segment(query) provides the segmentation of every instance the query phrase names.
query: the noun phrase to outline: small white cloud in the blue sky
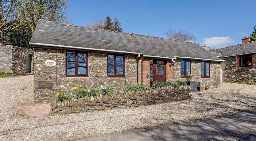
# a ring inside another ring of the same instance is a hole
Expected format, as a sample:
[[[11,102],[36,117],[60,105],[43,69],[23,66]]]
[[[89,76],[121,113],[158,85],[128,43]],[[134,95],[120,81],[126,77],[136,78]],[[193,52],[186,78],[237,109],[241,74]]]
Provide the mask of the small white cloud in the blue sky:
[[[235,40],[231,39],[229,36],[226,37],[211,37],[211,38],[203,38],[203,44],[208,47],[212,46],[220,46],[220,45],[227,45],[229,43],[233,43]]]

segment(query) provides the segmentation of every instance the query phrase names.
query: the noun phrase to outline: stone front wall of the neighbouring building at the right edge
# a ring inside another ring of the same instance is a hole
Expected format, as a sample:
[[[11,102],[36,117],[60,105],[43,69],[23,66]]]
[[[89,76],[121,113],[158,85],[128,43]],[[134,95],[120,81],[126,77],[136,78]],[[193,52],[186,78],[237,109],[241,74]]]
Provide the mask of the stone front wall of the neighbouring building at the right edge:
[[[225,60],[222,63],[223,82],[232,82],[246,75],[246,78],[236,81],[236,83],[256,82],[256,54],[254,54],[253,58],[252,67],[239,67],[240,62],[238,56],[222,58]]]

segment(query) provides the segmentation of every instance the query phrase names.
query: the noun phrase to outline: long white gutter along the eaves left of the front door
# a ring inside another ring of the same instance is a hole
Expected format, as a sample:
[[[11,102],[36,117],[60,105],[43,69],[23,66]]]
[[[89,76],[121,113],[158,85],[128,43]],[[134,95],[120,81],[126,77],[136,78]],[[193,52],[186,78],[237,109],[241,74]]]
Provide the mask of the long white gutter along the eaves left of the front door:
[[[41,44],[41,43],[30,43],[30,45],[40,45],[40,46],[49,46],[49,47],[60,47],[60,48],[76,48],[76,49],[84,49],[84,50],[92,50],[92,51],[107,51],[107,52],[117,52],[117,53],[128,53],[128,54],[138,54],[137,57],[140,57],[142,53],[138,52],[129,52],[129,51],[115,51],[108,49],[97,49],[97,48],[84,48],[84,47],[74,47],[74,46],[64,46],[64,45],[56,45],[56,44]]]

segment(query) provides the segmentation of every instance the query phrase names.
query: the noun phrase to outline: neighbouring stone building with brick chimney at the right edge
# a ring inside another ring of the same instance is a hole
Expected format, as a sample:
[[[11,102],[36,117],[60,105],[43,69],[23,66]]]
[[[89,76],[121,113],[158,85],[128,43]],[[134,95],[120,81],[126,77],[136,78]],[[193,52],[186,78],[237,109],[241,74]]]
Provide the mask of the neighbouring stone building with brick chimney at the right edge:
[[[243,37],[242,44],[211,50],[225,62],[222,63],[223,82],[256,82],[256,41]]]

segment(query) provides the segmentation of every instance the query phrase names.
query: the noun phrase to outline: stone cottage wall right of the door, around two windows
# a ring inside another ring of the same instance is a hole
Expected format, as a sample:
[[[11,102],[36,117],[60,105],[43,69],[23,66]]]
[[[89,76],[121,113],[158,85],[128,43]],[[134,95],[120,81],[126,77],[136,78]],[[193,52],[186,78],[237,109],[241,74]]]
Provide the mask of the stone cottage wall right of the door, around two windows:
[[[200,82],[200,90],[204,90],[206,85],[210,88],[220,87],[220,63],[210,62],[210,78],[201,78],[201,61],[192,60],[191,68],[193,74],[191,81]],[[176,59],[173,68],[173,79],[180,78],[180,59]]]

